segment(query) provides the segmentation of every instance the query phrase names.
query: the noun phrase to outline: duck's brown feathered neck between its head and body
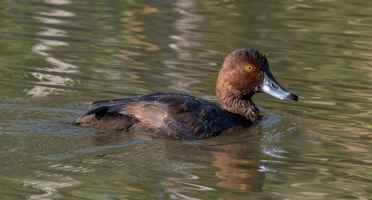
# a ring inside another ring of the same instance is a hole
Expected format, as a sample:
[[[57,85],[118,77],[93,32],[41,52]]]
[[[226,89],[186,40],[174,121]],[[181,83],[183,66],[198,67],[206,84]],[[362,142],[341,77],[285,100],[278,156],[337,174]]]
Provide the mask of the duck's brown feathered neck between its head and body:
[[[231,91],[230,91],[231,92]],[[216,88],[218,103],[228,112],[245,117],[250,122],[259,118],[260,112],[254,105],[251,95],[232,92],[227,94]]]

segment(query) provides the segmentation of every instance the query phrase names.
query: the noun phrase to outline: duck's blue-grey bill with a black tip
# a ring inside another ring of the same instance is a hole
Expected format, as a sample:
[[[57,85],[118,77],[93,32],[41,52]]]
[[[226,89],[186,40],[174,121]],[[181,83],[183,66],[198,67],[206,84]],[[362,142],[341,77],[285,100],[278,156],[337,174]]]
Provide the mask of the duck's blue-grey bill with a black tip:
[[[271,74],[268,64],[265,67],[265,71],[265,79],[260,88],[260,92],[270,94],[278,99],[298,101],[298,96],[296,94],[290,93],[279,85],[278,81],[276,81]]]

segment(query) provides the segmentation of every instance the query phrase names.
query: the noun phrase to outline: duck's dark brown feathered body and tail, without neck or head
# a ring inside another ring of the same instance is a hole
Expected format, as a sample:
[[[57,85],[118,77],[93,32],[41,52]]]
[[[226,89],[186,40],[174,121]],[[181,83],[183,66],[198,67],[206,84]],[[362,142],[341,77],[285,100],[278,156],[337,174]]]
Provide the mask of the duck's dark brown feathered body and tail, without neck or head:
[[[201,139],[236,125],[236,117],[193,96],[151,93],[130,99],[84,102],[96,107],[73,124],[122,131],[142,130]]]

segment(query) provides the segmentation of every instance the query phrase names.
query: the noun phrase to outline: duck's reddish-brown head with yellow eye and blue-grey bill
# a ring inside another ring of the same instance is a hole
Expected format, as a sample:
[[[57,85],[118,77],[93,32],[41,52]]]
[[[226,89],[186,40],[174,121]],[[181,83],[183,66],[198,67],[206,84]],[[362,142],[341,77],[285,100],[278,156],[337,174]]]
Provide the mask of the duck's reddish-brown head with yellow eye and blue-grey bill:
[[[298,96],[285,90],[275,80],[264,54],[254,49],[237,49],[224,59],[218,72],[218,103],[236,113],[231,106],[241,103],[241,100],[248,101],[254,107],[251,97],[256,93],[270,94],[279,99],[298,100]]]

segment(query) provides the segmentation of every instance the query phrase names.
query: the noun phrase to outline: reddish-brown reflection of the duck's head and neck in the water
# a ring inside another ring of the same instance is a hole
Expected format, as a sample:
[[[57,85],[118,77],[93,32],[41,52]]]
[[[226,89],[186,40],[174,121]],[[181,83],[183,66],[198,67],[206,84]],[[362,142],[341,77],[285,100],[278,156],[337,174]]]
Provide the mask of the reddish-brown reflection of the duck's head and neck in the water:
[[[250,129],[249,138],[244,136],[247,135],[247,129],[230,129],[228,132],[233,132],[232,136],[225,135],[208,142],[208,146],[212,145],[211,152],[215,158],[212,165],[219,168],[215,172],[220,178],[218,186],[234,190],[262,191],[266,172],[277,172],[267,166],[272,162],[270,159],[262,161],[250,157],[251,154],[257,155],[257,152],[265,151],[260,141],[262,132]],[[244,142],[241,142],[243,138]]]

